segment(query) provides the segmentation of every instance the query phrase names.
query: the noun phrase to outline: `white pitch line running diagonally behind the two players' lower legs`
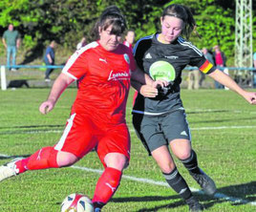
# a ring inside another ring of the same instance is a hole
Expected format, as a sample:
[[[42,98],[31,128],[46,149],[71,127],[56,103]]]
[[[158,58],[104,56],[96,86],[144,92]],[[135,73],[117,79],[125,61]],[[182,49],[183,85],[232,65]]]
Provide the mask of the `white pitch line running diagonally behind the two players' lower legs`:
[[[75,166],[75,165],[73,165],[71,167],[75,168],[75,169],[80,169],[80,170],[83,170],[83,171],[86,171],[86,172],[97,173],[97,174],[101,174],[103,172],[103,170],[100,170],[100,169],[92,169],[92,168],[80,167],[80,166]],[[164,186],[164,187],[170,187],[168,185],[168,183],[164,182],[164,181],[156,181],[156,180],[150,180],[150,179],[141,179],[141,178],[136,178],[136,177],[127,176],[127,175],[123,175],[122,179],[134,180],[134,181],[139,181],[139,182],[153,184],[153,185],[160,185],[160,186]],[[199,190],[199,189],[196,189],[196,188],[190,188],[190,190],[193,191],[193,192],[197,192],[198,194],[204,195],[202,190]],[[214,198],[222,199],[222,200],[224,199],[226,201],[234,201],[236,203],[250,204],[250,205],[256,206],[256,201],[245,201],[245,200],[240,199],[240,198],[234,198],[234,197],[226,196],[226,195],[224,195],[222,193],[216,193],[214,195]]]

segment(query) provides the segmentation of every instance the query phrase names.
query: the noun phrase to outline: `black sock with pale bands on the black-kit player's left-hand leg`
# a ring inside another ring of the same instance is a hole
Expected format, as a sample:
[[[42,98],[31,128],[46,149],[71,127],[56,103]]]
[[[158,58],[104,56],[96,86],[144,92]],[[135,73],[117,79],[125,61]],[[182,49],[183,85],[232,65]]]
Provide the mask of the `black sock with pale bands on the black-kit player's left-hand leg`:
[[[187,200],[192,197],[192,193],[185,182],[185,180],[180,175],[177,168],[175,168],[171,173],[162,173],[168,184],[179,194],[183,200]]]

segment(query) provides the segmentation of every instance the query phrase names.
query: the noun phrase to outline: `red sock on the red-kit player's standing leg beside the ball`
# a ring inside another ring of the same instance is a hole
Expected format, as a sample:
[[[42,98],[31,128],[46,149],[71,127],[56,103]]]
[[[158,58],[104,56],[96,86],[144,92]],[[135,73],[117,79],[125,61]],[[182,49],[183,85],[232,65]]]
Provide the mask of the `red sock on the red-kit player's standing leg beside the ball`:
[[[96,191],[93,202],[106,204],[115,194],[121,180],[122,172],[107,167],[96,183]]]

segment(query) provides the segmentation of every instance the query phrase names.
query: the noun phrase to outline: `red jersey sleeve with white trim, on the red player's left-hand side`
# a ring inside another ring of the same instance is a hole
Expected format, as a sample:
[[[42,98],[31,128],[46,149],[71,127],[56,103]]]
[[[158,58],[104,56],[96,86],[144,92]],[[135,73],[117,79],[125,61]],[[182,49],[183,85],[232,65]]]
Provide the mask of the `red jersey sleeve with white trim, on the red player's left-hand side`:
[[[85,75],[88,71],[87,53],[76,51],[64,66],[62,73],[69,75],[75,80]]]

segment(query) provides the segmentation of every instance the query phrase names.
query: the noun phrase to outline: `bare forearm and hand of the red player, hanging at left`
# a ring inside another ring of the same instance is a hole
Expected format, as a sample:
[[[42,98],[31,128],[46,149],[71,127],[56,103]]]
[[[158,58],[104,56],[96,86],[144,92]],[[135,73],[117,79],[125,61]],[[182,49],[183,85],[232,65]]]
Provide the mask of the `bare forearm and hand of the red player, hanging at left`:
[[[72,82],[74,82],[74,80],[74,78],[68,76],[67,74],[59,74],[53,83],[53,88],[50,92],[50,95],[48,96],[48,99],[44,101],[39,107],[40,113],[45,115],[52,111],[58,97]]]

